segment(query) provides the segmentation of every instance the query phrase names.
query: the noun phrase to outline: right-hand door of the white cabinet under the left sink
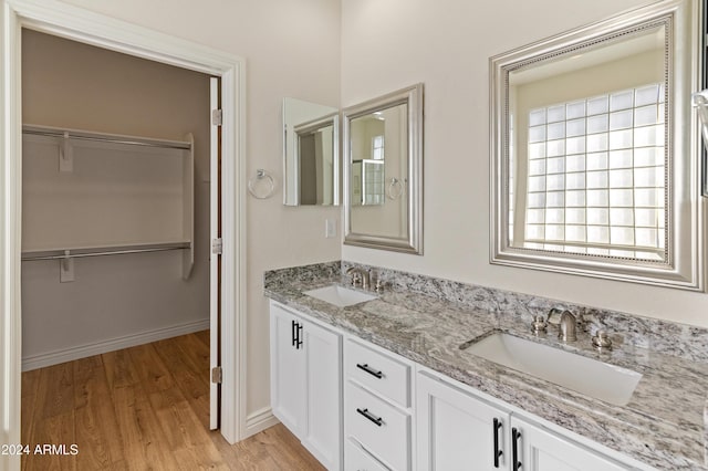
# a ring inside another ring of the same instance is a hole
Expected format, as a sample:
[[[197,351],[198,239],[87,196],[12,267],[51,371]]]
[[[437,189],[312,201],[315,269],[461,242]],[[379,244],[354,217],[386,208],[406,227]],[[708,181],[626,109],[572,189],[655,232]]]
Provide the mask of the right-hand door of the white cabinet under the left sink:
[[[303,322],[308,427],[302,443],[330,470],[342,454],[342,336]]]

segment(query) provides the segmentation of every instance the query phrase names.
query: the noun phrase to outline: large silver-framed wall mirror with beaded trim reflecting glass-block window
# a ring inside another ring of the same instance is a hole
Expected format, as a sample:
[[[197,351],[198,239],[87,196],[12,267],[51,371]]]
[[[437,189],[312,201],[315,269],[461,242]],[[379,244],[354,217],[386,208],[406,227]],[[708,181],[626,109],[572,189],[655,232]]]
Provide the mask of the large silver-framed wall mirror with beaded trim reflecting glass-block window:
[[[492,263],[701,287],[699,3],[491,57]]]

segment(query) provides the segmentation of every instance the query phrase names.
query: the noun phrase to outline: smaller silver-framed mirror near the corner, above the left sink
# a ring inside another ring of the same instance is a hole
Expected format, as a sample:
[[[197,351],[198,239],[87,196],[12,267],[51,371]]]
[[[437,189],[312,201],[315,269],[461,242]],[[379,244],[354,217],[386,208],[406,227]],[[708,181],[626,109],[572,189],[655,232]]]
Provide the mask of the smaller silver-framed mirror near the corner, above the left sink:
[[[423,84],[342,116],[344,243],[423,253]]]

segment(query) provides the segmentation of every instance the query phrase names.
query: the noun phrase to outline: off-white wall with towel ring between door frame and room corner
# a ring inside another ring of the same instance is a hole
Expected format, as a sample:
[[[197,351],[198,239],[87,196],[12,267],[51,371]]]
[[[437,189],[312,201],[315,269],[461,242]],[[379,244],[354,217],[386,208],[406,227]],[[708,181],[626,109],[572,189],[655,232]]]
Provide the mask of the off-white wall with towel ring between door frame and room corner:
[[[246,59],[247,171],[282,181],[284,96],[339,104],[340,4],[335,0],[66,0],[77,7],[202,43]],[[282,205],[280,189],[248,199],[249,415],[269,407],[268,304],[263,272],[340,258],[340,238],[324,239],[339,208]]]

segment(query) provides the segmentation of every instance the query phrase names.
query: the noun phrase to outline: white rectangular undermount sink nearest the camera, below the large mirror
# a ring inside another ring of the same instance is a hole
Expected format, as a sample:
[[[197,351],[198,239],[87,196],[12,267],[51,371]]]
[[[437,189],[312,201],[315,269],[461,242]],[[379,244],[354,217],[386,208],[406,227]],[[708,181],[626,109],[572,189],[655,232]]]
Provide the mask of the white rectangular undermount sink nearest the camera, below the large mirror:
[[[467,352],[616,406],[629,401],[642,379],[631,369],[501,332],[473,343]]]

